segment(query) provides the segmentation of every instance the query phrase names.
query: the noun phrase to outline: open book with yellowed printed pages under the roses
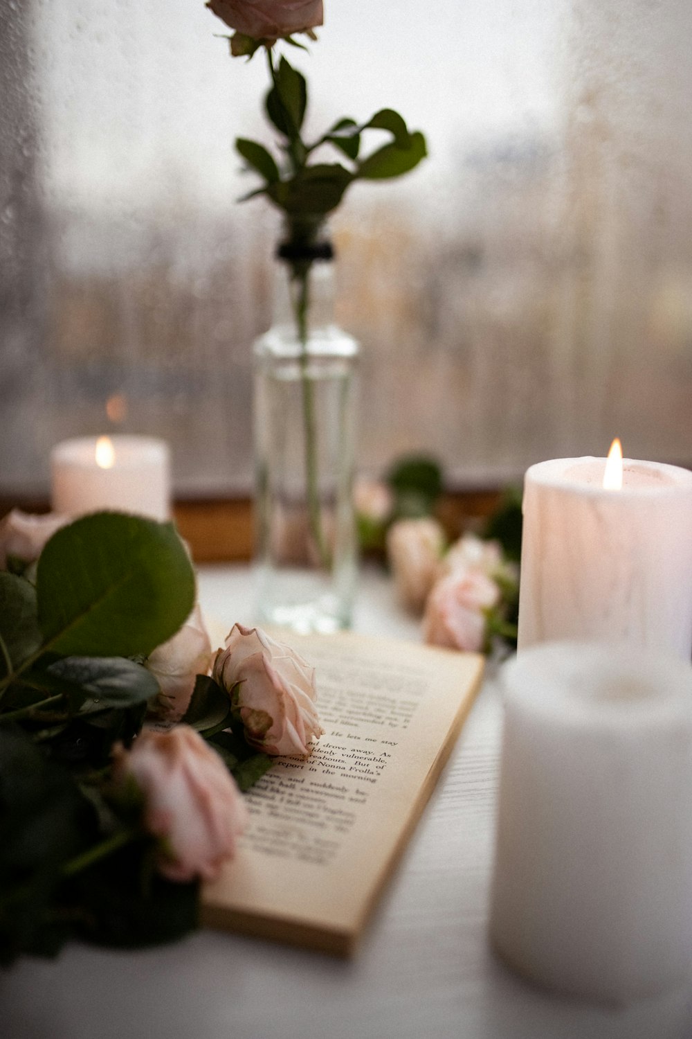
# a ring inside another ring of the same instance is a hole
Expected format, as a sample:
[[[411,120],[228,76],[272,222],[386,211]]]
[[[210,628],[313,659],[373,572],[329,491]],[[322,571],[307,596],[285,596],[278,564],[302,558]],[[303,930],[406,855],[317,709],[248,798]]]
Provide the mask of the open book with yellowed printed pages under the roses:
[[[482,657],[339,634],[284,636],[316,668],[324,736],[246,795],[250,824],[202,920],[347,955],[427,801]]]

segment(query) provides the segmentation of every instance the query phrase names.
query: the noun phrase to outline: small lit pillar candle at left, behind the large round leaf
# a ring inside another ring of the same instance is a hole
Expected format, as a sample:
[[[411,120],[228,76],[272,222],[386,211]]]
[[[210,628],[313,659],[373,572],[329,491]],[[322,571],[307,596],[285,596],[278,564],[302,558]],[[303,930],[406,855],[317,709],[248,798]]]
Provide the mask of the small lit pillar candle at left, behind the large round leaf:
[[[78,516],[100,509],[170,517],[168,445],[150,436],[84,436],[51,454],[55,512]]]

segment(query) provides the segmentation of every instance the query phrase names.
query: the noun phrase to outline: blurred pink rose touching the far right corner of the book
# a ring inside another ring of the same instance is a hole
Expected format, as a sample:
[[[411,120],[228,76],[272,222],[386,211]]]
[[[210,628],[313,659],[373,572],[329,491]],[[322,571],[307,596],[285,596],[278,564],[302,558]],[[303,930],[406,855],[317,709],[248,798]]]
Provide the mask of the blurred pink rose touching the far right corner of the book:
[[[486,640],[483,611],[497,606],[500,589],[480,569],[449,574],[425,603],[423,638],[432,645],[479,652]]]

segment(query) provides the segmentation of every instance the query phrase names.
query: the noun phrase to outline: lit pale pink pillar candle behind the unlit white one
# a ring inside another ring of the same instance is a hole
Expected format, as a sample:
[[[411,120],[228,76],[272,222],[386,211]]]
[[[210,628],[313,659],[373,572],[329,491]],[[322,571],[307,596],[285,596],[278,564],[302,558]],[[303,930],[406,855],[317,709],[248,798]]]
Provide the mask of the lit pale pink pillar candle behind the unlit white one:
[[[692,473],[604,458],[531,465],[524,482],[519,648],[624,639],[692,652]]]

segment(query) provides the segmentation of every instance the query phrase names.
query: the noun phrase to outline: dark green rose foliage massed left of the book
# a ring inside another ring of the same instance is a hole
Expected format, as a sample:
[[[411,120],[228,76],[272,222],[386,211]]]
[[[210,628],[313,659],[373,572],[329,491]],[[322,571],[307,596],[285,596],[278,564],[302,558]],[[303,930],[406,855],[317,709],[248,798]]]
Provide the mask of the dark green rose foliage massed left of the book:
[[[194,606],[186,548],[124,513],[15,512],[0,551],[0,960],[76,934],[175,937],[195,926],[197,880],[149,877],[160,838],[109,789],[111,749],[133,746],[160,694],[141,661]]]

